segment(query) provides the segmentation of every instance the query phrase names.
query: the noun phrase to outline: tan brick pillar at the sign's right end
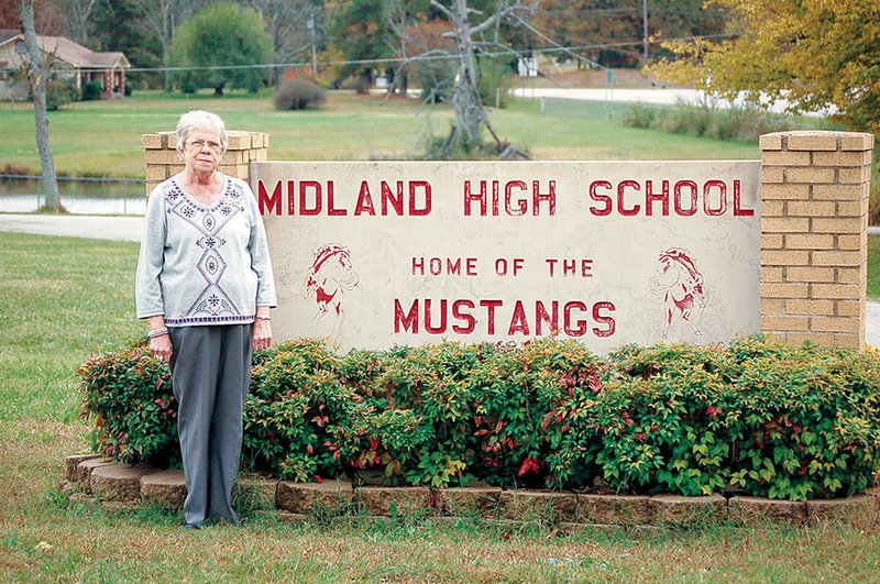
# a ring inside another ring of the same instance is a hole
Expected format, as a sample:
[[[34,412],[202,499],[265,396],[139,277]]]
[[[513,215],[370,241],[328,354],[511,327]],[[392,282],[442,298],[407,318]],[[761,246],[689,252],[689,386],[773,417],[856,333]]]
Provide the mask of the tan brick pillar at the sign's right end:
[[[761,331],[865,349],[873,135],[778,132],[761,147]]]

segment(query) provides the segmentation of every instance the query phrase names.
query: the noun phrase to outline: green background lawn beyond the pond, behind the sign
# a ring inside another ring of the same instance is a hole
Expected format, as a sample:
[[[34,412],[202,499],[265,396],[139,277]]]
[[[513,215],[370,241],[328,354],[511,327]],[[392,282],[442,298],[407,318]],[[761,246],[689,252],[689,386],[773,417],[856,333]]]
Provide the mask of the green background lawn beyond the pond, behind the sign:
[[[135,92],[113,101],[82,101],[50,112],[55,167],[69,176],[143,177],[141,134],[172,131],[190,109],[219,113],[232,130],[267,132],[270,158],[413,158],[429,134],[448,132],[447,106],[418,100],[330,91],[320,110],[276,111],[272,95],[180,96]],[[514,100],[492,112],[498,134],[528,148],[538,159],[693,159],[758,158],[757,144],[668,134],[626,128],[619,119],[628,106],[549,100],[540,114],[537,100]],[[29,103],[0,104],[0,161],[34,174],[40,162],[34,115]]]

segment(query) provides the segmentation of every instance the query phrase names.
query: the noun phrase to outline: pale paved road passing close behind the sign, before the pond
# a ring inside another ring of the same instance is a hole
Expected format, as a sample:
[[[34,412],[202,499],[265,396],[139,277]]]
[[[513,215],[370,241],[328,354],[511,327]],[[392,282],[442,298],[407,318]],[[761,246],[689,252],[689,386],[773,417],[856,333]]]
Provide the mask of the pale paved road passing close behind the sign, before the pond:
[[[0,231],[67,235],[116,241],[141,241],[143,217],[46,216],[0,213]],[[869,228],[880,235],[880,228]],[[868,302],[867,341],[880,346],[880,302]]]

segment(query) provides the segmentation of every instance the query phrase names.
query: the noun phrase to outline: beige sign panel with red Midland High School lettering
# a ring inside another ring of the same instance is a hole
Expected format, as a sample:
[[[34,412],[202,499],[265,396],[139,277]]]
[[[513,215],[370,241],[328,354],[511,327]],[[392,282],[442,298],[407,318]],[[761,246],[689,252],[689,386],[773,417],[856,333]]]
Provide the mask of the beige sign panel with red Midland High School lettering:
[[[255,163],[278,340],[759,331],[756,162]]]

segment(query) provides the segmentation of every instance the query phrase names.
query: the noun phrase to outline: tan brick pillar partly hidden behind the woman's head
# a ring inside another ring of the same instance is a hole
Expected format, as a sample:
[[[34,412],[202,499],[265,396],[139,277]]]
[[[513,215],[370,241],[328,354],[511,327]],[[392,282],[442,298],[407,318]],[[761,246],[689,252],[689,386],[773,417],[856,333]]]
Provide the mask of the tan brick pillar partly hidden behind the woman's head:
[[[251,180],[251,163],[263,162],[268,152],[268,134],[263,132],[228,131],[229,147],[220,161],[219,170],[229,176]],[[177,140],[174,132],[143,134],[146,195],[156,185],[184,169],[184,161],[177,155]]]

